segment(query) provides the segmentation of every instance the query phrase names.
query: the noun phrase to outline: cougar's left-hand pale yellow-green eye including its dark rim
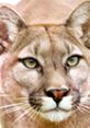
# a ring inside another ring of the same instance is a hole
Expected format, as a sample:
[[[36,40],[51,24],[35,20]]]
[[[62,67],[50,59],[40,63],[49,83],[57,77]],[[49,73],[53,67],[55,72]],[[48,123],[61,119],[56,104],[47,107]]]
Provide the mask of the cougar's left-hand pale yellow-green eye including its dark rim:
[[[34,58],[19,59],[26,68],[33,69],[38,66],[38,61]]]

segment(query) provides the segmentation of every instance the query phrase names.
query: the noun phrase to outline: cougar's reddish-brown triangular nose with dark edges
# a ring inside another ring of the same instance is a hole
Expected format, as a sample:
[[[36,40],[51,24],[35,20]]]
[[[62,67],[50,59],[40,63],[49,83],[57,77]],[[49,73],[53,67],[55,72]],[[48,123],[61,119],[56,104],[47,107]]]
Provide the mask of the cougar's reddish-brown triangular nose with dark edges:
[[[49,89],[47,91],[45,90],[45,94],[48,97],[53,97],[55,102],[59,102],[69,91],[69,89]]]

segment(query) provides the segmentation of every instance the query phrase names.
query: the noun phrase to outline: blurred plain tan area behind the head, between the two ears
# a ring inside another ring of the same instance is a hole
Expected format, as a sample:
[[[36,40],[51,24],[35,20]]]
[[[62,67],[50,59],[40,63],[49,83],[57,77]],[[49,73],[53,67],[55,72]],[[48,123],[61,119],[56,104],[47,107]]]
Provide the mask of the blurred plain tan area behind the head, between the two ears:
[[[87,0],[21,0],[15,9],[27,24],[59,24],[83,1]]]

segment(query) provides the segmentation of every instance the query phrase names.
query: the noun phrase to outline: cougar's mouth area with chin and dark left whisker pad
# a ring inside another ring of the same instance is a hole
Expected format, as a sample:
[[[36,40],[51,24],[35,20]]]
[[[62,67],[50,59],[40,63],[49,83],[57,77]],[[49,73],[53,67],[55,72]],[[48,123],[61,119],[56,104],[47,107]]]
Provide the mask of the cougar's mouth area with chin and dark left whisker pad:
[[[68,95],[57,104],[52,97],[43,96],[38,98],[36,96],[34,100],[30,98],[30,105],[38,107],[35,110],[43,119],[57,123],[68,119],[76,112],[72,100],[74,97]]]

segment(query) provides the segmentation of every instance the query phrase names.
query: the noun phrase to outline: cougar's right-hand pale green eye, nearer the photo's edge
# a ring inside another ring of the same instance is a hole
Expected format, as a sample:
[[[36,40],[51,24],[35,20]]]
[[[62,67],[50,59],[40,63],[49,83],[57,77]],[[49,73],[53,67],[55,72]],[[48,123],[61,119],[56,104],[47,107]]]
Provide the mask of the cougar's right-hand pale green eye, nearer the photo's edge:
[[[69,67],[75,67],[79,63],[81,56],[75,55],[67,59],[66,65]]]

